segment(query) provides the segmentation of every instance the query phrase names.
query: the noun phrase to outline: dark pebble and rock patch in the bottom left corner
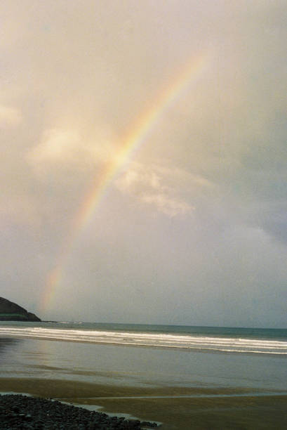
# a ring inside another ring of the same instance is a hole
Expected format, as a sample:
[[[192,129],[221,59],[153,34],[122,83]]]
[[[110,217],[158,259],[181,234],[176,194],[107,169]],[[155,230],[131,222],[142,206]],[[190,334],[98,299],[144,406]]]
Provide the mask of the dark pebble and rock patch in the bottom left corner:
[[[1,430],[139,430],[156,426],[152,422],[109,417],[102,412],[91,412],[57,400],[21,394],[0,395]]]

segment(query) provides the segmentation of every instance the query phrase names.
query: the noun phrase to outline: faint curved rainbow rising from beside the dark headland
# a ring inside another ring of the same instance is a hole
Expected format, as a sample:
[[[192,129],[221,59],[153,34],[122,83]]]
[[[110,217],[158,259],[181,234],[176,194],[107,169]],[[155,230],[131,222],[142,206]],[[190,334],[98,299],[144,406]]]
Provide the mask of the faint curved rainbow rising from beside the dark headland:
[[[122,139],[122,143],[119,145],[119,150],[115,154],[115,157],[107,164],[105,169],[103,169],[100,178],[97,177],[95,179],[90,190],[86,193],[79,211],[77,211],[74,217],[72,228],[70,228],[67,240],[62,246],[62,251],[58,256],[55,268],[48,274],[44,295],[41,300],[41,311],[46,311],[51,304],[55,295],[55,290],[58,285],[60,285],[65,273],[65,265],[69,258],[69,254],[72,252],[73,245],[77,237],[81,235],[82,231],[91,222],[95,208],[98,206],[103,195],[105,195],[109,184],[112,183],[112,180],[116,174],[119,173],[124,164],[131,159],[135,150],[138,150],[140,145],[147,139],[149,132],[152,131],[163,113],[175,103],[175,100],[177,100],[189,84],[196,81],[196,77],[199,77],[204,67],[206,67],[208,63],[207,60],[207,55],[201,55],[194,58],[192,62],[189,62],[189,64],[185,66],[184,70],[181,71],[178,77],[173,81],[173,84],[159,94],[152,106],[149,107],[149,110],[144,112],[135,125],[131,127],[132,131]]]

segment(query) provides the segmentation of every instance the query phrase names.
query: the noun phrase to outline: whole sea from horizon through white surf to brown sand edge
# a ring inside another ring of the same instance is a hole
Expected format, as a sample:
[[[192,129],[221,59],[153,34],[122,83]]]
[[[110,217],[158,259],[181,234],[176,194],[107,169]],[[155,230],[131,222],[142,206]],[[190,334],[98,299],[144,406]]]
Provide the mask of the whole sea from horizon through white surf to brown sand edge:
[[[285,391],[286,359],[285,329],[0,323],[0,378]]]

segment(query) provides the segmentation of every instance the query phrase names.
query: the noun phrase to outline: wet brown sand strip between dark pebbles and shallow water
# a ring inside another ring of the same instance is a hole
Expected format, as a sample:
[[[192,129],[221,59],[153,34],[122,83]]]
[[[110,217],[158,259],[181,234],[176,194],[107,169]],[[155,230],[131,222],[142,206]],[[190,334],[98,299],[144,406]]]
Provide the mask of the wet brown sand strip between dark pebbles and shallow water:
[[[162,422],[163,430],[287,428],[283,392],[260,390],[264,396],[257,396],[258,391],[249,389],[130,387],[30,378],[1,378],[0,391],[99,405],[114,415]]]

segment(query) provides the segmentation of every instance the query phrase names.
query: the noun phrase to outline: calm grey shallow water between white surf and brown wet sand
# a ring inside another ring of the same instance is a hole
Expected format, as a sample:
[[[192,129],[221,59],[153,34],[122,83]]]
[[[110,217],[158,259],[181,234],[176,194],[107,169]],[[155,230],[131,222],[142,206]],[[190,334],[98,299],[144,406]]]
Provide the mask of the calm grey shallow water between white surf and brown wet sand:
[[[39,377],[126,386],[286,389],[286,358],[180,349],[5,338],[0,377]]]

